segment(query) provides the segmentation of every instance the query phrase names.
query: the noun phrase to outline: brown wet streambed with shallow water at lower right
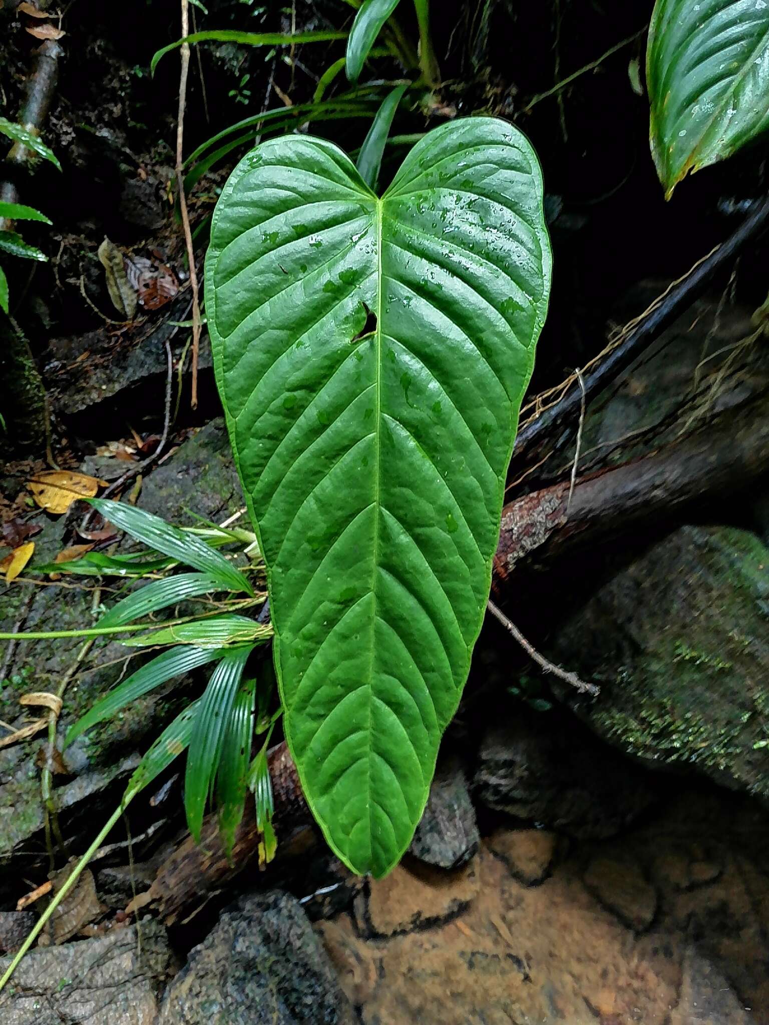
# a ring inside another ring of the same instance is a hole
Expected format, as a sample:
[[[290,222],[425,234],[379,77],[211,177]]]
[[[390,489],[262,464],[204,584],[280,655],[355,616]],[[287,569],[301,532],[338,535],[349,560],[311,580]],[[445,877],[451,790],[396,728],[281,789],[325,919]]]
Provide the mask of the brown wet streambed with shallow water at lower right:
[[[613,839],[537,833],[501,827],[455,872],[401,866],[369,885],[367,915],[316,926],[364,1025],[769,1022],[755,803],[689,791]]]

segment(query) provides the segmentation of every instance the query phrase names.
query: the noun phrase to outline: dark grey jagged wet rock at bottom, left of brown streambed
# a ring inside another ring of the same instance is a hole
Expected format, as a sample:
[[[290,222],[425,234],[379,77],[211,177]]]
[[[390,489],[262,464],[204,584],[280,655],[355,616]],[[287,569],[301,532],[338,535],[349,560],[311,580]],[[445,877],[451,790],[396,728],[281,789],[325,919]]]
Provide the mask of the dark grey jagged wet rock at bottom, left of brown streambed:
[[[243,898],[190,954],[157,1025],[352,1025],[352,1006],[297,902]]]

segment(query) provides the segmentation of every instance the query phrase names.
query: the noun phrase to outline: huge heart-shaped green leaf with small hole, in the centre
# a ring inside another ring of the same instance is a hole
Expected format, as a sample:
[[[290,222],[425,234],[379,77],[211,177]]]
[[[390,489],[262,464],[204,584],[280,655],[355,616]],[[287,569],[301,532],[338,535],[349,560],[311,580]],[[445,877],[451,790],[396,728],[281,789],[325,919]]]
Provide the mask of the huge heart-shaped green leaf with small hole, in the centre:
[[[536,156],[493,118],[431,132],[381,199],[330,142],[270,139],[216,206],[208,326],[286,737],[357,872],[408,846],[459,700],[550,279]]]

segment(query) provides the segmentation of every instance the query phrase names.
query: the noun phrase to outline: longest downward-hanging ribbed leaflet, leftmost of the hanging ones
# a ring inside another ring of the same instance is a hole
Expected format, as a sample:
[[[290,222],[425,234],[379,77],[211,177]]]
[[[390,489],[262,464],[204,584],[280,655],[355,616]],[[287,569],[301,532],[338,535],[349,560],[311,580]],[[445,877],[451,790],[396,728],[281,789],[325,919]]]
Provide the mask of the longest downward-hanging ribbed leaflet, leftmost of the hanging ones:
[[[251,651],[248,645],[228,652],[211,673],[198,704],[185,775],[187,823],[197,842],[200,842],[203,813],[221,753],[221,740]]]

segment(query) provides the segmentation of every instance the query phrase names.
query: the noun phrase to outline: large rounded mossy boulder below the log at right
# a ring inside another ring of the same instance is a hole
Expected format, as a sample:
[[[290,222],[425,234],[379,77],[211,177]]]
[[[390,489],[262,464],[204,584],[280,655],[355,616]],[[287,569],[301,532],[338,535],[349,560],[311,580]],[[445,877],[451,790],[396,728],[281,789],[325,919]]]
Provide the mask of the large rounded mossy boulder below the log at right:
[[[565,697],[606,739],[769,799],[769,548],[756,534],[674,531],[604,578],[550,654],[600,685],[593,701]]]

